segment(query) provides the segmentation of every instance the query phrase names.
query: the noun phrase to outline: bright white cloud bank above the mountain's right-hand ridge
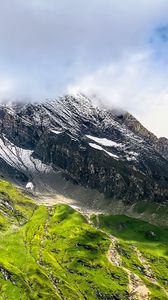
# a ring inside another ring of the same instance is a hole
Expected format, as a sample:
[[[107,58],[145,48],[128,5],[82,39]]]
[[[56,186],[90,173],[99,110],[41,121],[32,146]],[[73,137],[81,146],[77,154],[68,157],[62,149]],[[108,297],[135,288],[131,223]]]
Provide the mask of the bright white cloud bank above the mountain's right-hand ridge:
[[[127,53],[68,86],[98,105],[131,112],[156,134],[168,137],[168,70],[153,61],[153,51]],[[163,116],[163,119],[162,119]],[[159,122],[158,122],[159,120]]]

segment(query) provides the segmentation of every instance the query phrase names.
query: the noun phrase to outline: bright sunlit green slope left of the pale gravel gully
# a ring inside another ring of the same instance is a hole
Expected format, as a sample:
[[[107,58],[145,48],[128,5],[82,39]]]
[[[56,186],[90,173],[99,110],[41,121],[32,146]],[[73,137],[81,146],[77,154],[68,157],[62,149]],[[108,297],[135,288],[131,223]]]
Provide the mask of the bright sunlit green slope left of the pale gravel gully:
[[[4,181],[0,193],[0,299],[128,299],[108,235],[66,205],[37,206]]]

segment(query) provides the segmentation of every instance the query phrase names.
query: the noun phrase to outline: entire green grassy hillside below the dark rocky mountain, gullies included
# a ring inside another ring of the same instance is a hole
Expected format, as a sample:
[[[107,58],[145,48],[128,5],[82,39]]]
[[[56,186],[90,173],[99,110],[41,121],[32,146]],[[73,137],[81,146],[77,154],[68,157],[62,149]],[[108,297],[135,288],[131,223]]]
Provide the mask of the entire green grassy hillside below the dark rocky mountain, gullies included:
[[[0,180],[0,299],[168,299],[166,233],[124,216],[88,223]]]

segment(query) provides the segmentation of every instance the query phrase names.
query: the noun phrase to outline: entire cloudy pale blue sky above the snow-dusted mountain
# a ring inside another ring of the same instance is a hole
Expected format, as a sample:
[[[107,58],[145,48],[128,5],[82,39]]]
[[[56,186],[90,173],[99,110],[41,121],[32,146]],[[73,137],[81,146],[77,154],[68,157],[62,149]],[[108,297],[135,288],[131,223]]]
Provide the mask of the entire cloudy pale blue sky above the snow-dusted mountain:
[[[168,137],[168,1],[1,1],[0,100],[76,91]]]

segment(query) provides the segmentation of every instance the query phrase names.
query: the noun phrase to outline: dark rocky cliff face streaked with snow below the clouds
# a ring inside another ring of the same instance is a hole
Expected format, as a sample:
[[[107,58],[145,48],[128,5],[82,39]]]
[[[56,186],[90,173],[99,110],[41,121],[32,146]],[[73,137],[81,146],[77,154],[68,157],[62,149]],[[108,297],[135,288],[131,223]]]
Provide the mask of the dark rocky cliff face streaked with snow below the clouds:
[[[66,96],[2,106],[0,132],[1,159],[32,182],[35,173],[37,179],[58,171],[107,197],[168,200],[168,142],[130,114],[115,116],[84,96]]]

